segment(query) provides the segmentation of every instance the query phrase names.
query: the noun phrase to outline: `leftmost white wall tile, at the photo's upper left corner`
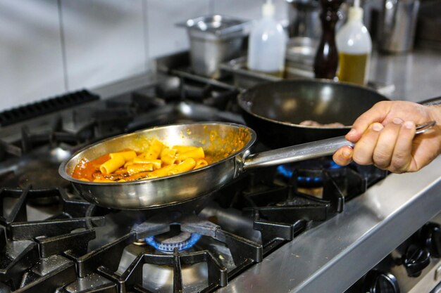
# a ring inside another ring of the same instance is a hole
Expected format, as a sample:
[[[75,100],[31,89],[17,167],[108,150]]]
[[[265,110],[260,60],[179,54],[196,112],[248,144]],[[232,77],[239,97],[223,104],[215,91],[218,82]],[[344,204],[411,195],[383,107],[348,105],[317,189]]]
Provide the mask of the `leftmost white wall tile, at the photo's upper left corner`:
[[[0,1],[0,111],[63,91],[57,1]]]

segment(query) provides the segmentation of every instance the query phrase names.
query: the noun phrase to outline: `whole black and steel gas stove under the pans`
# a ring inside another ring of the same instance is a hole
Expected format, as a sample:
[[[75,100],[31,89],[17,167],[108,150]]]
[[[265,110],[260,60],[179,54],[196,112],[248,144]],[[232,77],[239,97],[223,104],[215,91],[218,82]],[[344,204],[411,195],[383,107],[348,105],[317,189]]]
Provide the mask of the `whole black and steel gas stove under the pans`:
[[[110,136],[244,124],[236,95],[181,74],[0,113],[0,292],[343,292],[441,210],[439,159],[400,176],[330,157],[256,169],[146,211],[90,204],[58,176],[73,152]]]

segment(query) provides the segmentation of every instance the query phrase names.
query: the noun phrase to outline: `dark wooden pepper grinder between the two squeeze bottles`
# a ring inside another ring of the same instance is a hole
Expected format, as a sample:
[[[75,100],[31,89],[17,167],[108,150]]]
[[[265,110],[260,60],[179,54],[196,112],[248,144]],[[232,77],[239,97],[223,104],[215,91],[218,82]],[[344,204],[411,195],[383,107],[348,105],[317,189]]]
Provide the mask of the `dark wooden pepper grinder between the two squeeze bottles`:
[[[321,0],[320,14],[322,35],[314,59],[314,75],[316,78],[334,79],[338,66],[338,52],[335,45],[335,24],[338,8],[344,0]]]

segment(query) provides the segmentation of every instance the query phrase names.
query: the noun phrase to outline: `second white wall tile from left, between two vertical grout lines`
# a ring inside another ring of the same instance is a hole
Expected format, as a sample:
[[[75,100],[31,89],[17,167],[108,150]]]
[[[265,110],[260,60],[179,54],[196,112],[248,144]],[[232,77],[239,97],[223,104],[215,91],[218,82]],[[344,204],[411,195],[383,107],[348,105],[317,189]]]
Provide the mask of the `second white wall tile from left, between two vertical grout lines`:
[[[61,0],[68,89],[147,70],[143,0]]]

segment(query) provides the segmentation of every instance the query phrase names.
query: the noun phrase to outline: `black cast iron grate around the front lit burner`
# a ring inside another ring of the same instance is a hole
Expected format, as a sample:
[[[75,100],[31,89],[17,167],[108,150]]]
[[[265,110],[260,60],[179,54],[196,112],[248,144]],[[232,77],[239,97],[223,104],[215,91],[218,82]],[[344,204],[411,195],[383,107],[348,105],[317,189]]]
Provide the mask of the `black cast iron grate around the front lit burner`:
[[[232,258],[237,265],[228,271],[222,263],[213,256],[211,248],[204,244],[196,245],[195,251],[179,252],[174,249],[173,253],[158,252],[154,247],[146,245],[137,247],[135,242],[150,235],[158,235],[170,229],[172,225],[179,225],[180,229],[189,233],[200,233],[206,239],[224,243],[231,252]],[[129,248],[128,248],[129,247]],[[120,258],[126,249],[137,247],[137,254],[122,272],[118,271]],[[262,247],[256,242],[244,239],[233,233],[222,230],[219,226],[209,221],[199,219],[195,215],[173,216],[170,214],[156,214],[147,221],[132,228],[130,233],[114,240],[102,247],[92,250],[84,255],[75,255],[65,252],[65,255],[77,263],[78,276],[87,278],[88,275],[98,274],[116,284],[118,292],[150,292],[142,287],[142,269],[145,263],[157,266],[168,266],[173,271],[173,292],[182,292],[184,282],[182,280],[182,266],[191,266],[196,263],[206,263],[208,283],[201,288],[201,292],[212,292],[218,287],[227,285],[228,280],[233,278],[239,271],[262,260]],[[112,257],[113,256],[113,257]],[[118,273],[116,273],[118,272]],[[78,284],[80,284],[80,280]],[[108,284],[103,284],[107,286]],[[77,287],[79,285],[70,285]],[[85,291],[85,292],[92,292]]]

